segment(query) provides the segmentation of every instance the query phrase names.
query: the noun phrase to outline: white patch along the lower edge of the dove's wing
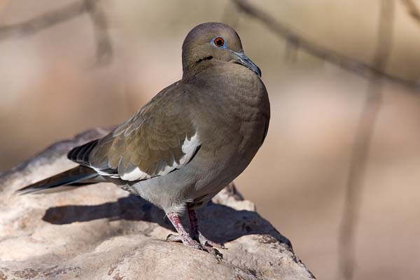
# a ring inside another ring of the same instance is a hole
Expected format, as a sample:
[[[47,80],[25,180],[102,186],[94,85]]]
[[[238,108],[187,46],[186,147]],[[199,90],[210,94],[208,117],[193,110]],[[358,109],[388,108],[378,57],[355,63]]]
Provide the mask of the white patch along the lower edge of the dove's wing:
[[[197,132],[190,139],[186,137],[181,147],[183,156],[179,159],[179,164],[176,162],[176,160],[173,160],[172,165],[167,165],[167,162],[160,162],[160,164],[156,167],[155,170],[155,172],[158,173],[153,172],[153,176],[165,176],[169,172],[172,172],[172,170],[183,167],[188,162],[190,162],[195,151],[197,151],[197,148],[200,145],[201,142],[198,138]],[[120,178],[125,181],[138,181],[144,179],[151,179],[151,175],[142,171],[141,169],[139,169],[139,167],[136,167],[130,172],[121,174]]]

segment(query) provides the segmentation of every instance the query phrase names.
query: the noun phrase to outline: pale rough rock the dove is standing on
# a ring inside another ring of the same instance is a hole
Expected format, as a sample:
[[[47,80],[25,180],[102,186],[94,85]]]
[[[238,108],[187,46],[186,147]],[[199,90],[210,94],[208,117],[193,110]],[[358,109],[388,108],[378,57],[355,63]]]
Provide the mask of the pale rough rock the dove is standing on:
[[[0,174],[0,280],[314,278],[232,185],[198,212],[204,235],[228,248],[223,260],[165,241],[174,232],[165,213],[111,183],[15,195],[72,167],[66,152],[104,133],[59,142]]]

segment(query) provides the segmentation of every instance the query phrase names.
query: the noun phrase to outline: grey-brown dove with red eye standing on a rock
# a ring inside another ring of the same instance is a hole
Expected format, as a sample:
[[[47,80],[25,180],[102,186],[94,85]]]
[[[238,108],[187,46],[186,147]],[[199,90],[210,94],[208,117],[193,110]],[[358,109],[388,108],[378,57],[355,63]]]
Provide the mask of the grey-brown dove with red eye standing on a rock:
[[[162,208],[186,246],[210,251],[195,209],[211,200],[251,162],[269,124],[261,72],[237,32],[209,22],[182,47],[183,77],[159,92],[102,139],[73,148],[78,167],[18,192],[111,181]],[[190,233],[179,216],[187,211]]]

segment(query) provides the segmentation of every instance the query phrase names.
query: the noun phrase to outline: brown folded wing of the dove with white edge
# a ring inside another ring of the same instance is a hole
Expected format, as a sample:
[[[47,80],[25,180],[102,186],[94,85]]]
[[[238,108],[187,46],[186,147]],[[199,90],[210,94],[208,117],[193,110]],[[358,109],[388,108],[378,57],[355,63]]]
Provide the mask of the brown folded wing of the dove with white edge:
[[[168,174],[186,165],[200,147],[190,106],[185,88],[169,86],[106,137],[78,147],[69,158],[127,181]]]

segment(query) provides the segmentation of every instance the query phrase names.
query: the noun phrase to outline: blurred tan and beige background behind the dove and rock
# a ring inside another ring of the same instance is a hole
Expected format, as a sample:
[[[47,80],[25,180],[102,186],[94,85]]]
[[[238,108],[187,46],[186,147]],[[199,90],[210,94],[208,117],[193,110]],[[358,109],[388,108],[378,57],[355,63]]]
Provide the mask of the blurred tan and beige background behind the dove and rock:
[[[418,279],[417,7],[0,0],[0,172],[55,141],[123,122],[181,78],[191,28],[225,22],[262,69],[272,106],[239,191],[318,279]]]

